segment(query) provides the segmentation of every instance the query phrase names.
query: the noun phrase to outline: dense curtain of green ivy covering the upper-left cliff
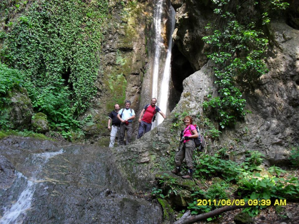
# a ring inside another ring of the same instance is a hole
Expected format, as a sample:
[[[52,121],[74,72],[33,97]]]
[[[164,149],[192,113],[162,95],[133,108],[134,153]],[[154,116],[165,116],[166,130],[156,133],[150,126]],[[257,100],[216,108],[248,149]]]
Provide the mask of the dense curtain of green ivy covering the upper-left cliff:
[[[39,94],[62,89],[62,95],[67,94],[73,104],[72,114],[79,114],[96,91],[94,81],[107,12],[107,0],[23,1],[18,7],[12,5],[6,16],[8,20],[17,16],[17,20],[7,23],[1,61],[20,70]]]

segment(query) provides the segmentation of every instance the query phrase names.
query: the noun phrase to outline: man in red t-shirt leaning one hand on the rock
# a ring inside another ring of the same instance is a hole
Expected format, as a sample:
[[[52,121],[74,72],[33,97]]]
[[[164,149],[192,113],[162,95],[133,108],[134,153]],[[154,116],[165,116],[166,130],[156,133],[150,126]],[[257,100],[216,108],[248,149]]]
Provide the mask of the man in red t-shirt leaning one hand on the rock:
[[[145,107],[142,109],[138,119],[139,129],[137,138],[141,138],[144,133],[150,131],[152,127],[153,117],[154,115],[156,115],[157,112],[159,112],[164,119],[166,118],[165,114],[160,110],[158,106],[156,106],[156,103],[157,99],[153,98],[151,100],[151,104],[145,105]]]

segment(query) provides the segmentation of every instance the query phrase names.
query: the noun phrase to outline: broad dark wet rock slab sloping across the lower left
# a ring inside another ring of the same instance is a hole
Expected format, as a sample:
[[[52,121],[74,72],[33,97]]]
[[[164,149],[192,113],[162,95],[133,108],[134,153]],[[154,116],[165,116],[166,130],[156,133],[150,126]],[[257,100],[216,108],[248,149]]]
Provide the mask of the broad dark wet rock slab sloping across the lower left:
[[[31,139],[30,139],[31,140]],[[4,142],[3,142],[4,141]],[[44,141],[33,142],[45,145]],[[108,148],[94,145],[67,145],[31,149],[23,138],[8,138],[0,144],[0,160],[11,164],[8,168],[22,173],[14,177],[11,187],[0,188],[0,215],[11,201],[29,186],[33,196],[23,223],[162,223],[159,205],[135,198],[130,182],[116,168],[114,156]],[[9,143],[11,142],[11,143]],[[17,150],[17,144],[22,149]],[[27,147],[26,147],[27,145]],[[45,152],[46,148],[55,147]],[[7,154],[9,152],[9,154]],[[7,166],[6,166],[7,167]],[[10,168],[9,168],[10,167]],[[4,170],[3,169],[3,170]],[[9,176],[9,172],[6,171]],[[2,173],[0,173],[2,180]],[[22,186],[20,185],[22,181]],[[1,185],[2,186],[2,185]]]

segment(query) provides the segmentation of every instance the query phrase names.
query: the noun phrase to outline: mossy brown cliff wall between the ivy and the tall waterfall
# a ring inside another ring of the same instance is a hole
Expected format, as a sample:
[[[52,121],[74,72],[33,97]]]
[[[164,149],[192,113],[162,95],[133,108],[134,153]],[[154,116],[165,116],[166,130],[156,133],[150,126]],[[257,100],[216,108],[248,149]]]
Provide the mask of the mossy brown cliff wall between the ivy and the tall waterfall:
[[[92,115],[93,121],[83,130],[90,141],[97,142],[101,137],[110,135],[107,129],[108,114],[115,103],[123,108],[128,99],[135,111],[139,106],[147,64],[145,31],[152,19],[152,2],[110,4],[113,10],[104,31],[102,64],[96,81],[97,94],[93,106],[83,115],[83,118]]]

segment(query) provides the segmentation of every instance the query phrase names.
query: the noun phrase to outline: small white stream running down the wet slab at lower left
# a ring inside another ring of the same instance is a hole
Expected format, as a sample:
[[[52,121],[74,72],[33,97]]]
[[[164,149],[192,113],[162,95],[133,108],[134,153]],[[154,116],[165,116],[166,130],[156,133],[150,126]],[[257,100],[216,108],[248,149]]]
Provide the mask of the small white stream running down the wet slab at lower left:
[[[61,149],[59,152],[37,153],[34,154],[32,158],[28,158],[28,161],[38,165],[39,168],[37,170],[33,170],[30,180],[20,172],[16,171],[16,180],[14,182],[13,188],[15,188],[16,191],[21,191],[21,193],[16,202],[1,208],[4,211],[4,214],[0,218],[0,224],[23,222],[23,214],[25,214],[26,211],[31,208],[31,202],[36,189],[36,184],[39,182],[37,180],[38,173],[51,157],[63,152],[63,149]]]

